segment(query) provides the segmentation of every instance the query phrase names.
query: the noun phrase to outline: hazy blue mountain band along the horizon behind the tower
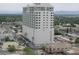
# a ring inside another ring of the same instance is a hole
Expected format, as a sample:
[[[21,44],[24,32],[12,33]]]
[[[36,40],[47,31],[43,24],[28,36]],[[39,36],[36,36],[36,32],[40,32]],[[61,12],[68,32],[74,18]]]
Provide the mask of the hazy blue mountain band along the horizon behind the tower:
[[[54,11],[54,14],[59,16],[79,16],[79,11]],[[0,16],[4,15],[22,15],[22,12],[0,11]]]

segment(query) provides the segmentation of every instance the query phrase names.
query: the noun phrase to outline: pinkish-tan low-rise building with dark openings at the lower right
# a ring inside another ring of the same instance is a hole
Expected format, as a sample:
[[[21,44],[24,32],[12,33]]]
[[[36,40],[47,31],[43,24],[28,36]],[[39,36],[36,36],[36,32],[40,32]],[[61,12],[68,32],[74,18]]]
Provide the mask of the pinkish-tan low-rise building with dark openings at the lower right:
[[[46,50],[47,52],[54,53],[54,52],[66,52],[69,51],[71,48],[72,48],[71,44],[57,42],[47,45]]]

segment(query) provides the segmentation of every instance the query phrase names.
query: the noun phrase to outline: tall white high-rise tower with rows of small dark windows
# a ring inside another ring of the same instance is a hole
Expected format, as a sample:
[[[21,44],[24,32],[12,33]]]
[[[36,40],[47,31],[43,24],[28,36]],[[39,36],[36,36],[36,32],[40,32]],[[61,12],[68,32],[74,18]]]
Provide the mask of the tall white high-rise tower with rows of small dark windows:
[[[23,33],[35,45],[53,42],[53,22],[53,6],[49,3],[28,4],[23,8]]]

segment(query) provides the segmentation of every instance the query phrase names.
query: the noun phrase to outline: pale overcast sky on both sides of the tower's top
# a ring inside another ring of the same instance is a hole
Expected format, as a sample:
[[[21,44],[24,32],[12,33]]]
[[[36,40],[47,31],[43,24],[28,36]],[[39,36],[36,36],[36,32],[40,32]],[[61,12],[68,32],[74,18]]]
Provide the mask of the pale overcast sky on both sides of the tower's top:
[[[0,3],[0,13],[22,13],[27,3]],[[79,11],[79,3],[52,3],[54,11]]]

